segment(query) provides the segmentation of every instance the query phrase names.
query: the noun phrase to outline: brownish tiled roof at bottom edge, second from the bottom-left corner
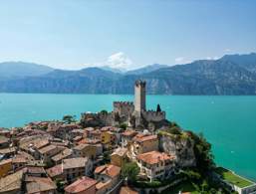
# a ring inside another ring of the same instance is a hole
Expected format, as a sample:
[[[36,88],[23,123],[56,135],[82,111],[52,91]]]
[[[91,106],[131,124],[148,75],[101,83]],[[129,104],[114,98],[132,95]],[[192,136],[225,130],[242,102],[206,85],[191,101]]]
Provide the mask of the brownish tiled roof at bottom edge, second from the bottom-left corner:
[[[56,188],[57,186],[52,179],[46,177],[30,177],[29,182],[26,184],[27,193],[41,193],[55,190]]]

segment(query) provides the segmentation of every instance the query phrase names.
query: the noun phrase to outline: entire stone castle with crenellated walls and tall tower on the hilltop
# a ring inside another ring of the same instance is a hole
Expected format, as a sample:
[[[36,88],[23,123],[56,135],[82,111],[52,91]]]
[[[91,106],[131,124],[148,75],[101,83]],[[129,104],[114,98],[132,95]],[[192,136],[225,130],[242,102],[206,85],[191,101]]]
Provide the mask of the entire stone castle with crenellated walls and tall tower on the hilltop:
[[[86,126],[119,125],[126,123],[132,128],[156,129],[168,124],[165,111],[146,110],[146,83],[141,80],[134,84],[134,101],[114,101],[112,112],[84,113],[82,123]],[[89,122],[90,121],[90,122]]]

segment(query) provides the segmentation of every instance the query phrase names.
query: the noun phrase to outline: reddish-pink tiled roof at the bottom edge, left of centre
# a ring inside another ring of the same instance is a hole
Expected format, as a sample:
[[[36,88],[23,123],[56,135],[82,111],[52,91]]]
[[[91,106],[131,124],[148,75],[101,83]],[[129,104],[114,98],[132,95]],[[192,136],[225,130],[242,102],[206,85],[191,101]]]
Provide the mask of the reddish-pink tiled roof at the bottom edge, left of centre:
[[[68,193],[80,193],[88,190],[93,186],[96,186],[96,183],[97,183],[96,180],[83,176],[82,178],[79,178],[77,181],[75,181],[71,185],[67,186],[65,188],[65,191]]]

